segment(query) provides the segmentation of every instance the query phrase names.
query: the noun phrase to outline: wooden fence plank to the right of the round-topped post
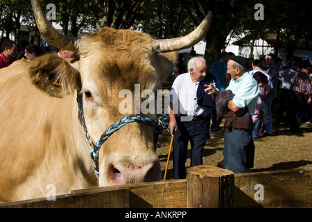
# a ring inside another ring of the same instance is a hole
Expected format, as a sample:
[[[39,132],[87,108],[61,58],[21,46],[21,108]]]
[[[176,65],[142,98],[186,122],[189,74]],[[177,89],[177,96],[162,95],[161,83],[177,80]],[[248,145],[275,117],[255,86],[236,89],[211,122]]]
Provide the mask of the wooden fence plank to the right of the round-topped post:
[[[235,175],[235,207],[312,207],[311,168]]]

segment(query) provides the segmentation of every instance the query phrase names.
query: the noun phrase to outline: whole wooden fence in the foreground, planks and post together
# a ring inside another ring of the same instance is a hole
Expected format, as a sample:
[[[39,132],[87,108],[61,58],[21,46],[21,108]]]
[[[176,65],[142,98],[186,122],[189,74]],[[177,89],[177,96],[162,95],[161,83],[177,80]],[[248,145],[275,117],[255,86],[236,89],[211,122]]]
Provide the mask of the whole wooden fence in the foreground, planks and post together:
[[[187,179],[73,190],[0,207],[312,207],[311,168],[235,174],[218,167],[188,169]]]

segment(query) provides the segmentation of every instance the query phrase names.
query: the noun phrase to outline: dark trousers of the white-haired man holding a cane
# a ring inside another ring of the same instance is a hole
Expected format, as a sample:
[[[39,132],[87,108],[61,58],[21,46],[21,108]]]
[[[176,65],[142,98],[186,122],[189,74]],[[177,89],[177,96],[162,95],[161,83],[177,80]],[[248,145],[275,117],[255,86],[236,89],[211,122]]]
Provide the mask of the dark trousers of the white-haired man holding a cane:
[[[185,162],[187,145],[191,143],[191,167],[202,165],[202,153],[206,144],[205,120],[180,121],[173,137],[173,176],[175,180],[186,178]]]

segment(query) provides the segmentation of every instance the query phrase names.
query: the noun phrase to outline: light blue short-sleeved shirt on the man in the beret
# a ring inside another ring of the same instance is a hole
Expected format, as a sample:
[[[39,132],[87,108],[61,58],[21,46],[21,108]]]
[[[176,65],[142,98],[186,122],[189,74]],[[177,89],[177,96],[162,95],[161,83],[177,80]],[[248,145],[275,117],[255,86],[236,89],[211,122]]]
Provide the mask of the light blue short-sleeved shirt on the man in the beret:
[[[249,114],[253,115],[259,96],[259,85],[257,81],[246,72],[237,80],[231,79],[229,86],[225,90],[228,89],[235,95],[233,103],[239,108],[245,108],[247,106]]]

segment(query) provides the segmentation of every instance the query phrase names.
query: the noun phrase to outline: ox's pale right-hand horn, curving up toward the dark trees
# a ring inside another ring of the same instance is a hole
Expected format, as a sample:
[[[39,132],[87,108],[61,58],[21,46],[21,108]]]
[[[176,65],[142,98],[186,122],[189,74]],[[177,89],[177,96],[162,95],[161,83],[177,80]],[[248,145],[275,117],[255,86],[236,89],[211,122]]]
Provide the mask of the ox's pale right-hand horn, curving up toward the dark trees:
[[[202,40],[211,24],[211,11],[208,12],[205,19],[200,23],[200,25],[189,35],[184,37],[177,37],[167,40],[154,40],[154,47],[159,53],[166,53],[169,51],[178,51],[182,49],[187,49]]]

